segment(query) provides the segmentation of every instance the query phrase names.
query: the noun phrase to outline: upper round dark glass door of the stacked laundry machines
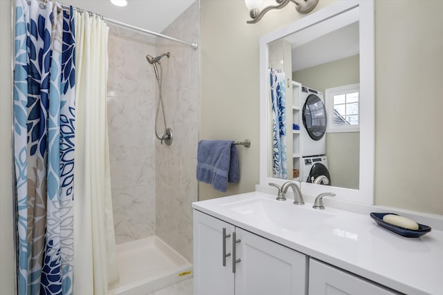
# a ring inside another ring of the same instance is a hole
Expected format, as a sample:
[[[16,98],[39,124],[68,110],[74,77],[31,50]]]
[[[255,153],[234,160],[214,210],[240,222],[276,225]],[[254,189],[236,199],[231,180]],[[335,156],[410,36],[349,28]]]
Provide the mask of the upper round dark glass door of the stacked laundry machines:
[[[309,95],[303,106],[303,125],[309,137],[320,140],[325,135],[326,122],[325,104],[317,95]]]

